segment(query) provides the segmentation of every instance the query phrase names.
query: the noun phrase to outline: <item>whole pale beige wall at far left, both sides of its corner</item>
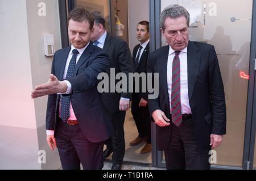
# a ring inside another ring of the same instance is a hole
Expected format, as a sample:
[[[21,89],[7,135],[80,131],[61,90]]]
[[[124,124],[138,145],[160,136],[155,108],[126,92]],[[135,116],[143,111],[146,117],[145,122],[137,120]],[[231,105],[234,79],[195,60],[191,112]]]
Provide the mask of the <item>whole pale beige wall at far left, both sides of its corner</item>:
[[[38,15],[39,2],[46,3],[46,16]],[[61,47],[58,1],[0,1],[0,20],[0,169],[58,169],[57,150],[46,142],[47,97],[30,98],[51,71],[43,36],[54,35],[55,50]],[[39,150],[46,151],[45,164],[38,163]]]

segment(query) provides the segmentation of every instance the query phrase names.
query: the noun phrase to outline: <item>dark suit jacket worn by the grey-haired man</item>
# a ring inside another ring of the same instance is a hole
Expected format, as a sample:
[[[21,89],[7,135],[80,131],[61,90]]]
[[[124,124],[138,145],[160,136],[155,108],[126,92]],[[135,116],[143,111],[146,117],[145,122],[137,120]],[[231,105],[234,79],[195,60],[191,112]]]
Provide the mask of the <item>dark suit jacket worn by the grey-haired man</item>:
[[[169,46],[162,47],[148,56],[148,72],[159,73],[159,96],[148,100],[150,113],[162,110],[170,119],[167,91],[167,60]],[[188,95],[195,121],[195,136],[200,150],[209,150],[210,134],[226,133],[226,106],[218,59],[209,44],[188,43]],[[168,146],[171,129],[156,126],[159,150]]]

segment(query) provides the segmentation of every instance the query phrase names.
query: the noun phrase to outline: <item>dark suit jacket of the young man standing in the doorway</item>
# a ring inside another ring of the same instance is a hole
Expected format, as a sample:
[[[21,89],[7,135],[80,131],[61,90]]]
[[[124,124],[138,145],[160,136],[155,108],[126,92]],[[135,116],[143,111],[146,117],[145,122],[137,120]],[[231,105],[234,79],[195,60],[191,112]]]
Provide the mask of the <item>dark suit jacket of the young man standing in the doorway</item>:
[[[134,71],[137,73],[147,73],[147,57],[148,57],[148,53],[150,52],[149,49],[149,45],[150,43],[148,42],[147,46],[145,47],[142,55],[141,55],[141,59],[139,60],[139,63],[137,65],[135,65],[135,61],[136,61],[136,54],[138,52],[139,49],[139,45],[136,45],[133,49],[133,64],[134,64]],[[141,100],[141,98],[147,100],[147,92],[142,92],[142,81],[140,80],[139,82],[139,93],[134,93],[133,95],[138,96],[138,99]]]

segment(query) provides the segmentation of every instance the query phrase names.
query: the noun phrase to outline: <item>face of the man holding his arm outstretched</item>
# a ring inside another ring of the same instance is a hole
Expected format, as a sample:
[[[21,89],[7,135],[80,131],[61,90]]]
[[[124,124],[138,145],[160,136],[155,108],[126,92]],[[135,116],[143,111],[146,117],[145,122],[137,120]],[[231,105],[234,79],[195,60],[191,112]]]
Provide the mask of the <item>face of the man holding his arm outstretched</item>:
[[[69,20],[68,37],[75,48],[84,48],[90,41],[91,33],[88,21],[75,22],[72,19]]]

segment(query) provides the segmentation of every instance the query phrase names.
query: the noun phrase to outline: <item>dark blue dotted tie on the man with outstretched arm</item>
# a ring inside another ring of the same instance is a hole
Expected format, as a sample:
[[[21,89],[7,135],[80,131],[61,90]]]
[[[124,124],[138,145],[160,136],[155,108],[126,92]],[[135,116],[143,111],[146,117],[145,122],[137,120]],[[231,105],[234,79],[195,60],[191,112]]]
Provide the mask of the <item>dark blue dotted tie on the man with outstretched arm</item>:
[[[68,65],[68,71],[67,71],[66,78],[73,77],[74,72],[75,72],[76,55],[79,52],[77,51],[77,49],[73,49],[72,53],[73,53],[73,56]],[[69,103],[70,103],[70,95],[63,94],[61,96],[61,101],[60,101],[60,118],[63,121],[67,121],[69,119]]]

